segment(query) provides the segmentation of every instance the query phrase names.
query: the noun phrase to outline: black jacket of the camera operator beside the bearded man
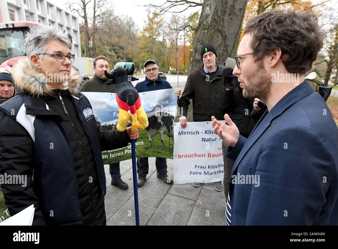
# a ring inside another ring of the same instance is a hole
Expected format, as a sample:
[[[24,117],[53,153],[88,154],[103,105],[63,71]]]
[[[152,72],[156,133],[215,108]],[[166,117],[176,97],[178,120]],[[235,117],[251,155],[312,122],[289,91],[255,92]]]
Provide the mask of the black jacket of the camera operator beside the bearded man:
[[[220,112],[231,115],[231,120],[239,130],[239,134],[248,138],[256,123],[264,114],[266,107],[259,112],[254,110],[254,99],[243,97],[243,89],[227,91],[224,89],[220,101]],[[224,119],[224,118],[223,118]]]

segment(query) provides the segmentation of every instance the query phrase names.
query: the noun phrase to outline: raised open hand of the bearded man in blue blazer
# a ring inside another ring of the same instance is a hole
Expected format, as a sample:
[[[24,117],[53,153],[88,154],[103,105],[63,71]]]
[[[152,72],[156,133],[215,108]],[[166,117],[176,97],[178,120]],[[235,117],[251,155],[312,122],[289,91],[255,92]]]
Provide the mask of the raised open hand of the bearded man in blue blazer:
[[[229,124],[226,125],[221,121],[218,121],[214,116],[211,117],[212,127],[214,128],[214,132],[227,144],[231,147],[235,147],[238,138],[239,138],[239,130],[234,122],[230,119],[228,114],[224,115],[225,121]]]

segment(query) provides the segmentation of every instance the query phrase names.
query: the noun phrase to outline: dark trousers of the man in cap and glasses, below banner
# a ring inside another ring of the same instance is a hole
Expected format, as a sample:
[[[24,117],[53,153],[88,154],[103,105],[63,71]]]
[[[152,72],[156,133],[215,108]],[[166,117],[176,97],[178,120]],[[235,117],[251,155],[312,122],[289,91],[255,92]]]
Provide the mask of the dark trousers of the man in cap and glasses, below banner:
[[[139,157],[137,158],[137,174],[139,179],[146,179],[148,174],[149,164],[148,157]],[[156,157],[155,166],[157,170],[158,177],[167,176],[167,158]]]

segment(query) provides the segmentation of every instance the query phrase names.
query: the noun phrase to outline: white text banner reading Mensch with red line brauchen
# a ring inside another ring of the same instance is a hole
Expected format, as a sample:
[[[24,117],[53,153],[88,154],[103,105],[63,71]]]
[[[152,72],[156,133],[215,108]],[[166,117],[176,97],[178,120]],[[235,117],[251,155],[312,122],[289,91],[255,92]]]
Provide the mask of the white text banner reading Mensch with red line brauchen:
[[[211,121],[187,122],[185,129],[175,123],[174,137],[175,183],[223,180],[222,139],[214,133]]]

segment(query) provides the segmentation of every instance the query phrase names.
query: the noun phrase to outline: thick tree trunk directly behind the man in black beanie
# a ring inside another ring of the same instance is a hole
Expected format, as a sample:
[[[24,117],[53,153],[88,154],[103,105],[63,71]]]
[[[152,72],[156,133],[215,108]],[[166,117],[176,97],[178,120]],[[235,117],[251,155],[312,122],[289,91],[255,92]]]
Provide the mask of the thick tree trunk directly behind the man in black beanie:
[[[227,57],[235,56],[246,3],[247,0],[204,0],[194,34],[189,74],[202,65],[200,51],[205,43],[210,43],[215,47],[216,63],[220,67],[223,67]],[[187,121],[192,121],[189,111]]]

